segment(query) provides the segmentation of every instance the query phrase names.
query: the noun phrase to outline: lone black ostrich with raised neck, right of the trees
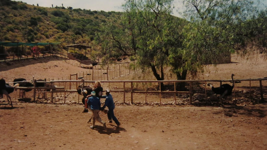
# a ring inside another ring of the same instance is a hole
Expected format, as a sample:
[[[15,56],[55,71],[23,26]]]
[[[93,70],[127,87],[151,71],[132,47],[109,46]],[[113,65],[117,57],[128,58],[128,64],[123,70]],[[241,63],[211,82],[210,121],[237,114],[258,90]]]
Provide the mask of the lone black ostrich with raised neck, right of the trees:
[[[222,84],[219,87],[213,87],[212,84],[207,83],[208,86],[211,87],[211,90],[215,93],[215,94],[220,94],[220,103],[222,104],[222,98],[227,97],[228,95],[230,95],[232,93],[232,88],[234,87],[234,81],[233,81],[233,76],[234,74],[231,75],[232,78],[232,85],[229,84]]]

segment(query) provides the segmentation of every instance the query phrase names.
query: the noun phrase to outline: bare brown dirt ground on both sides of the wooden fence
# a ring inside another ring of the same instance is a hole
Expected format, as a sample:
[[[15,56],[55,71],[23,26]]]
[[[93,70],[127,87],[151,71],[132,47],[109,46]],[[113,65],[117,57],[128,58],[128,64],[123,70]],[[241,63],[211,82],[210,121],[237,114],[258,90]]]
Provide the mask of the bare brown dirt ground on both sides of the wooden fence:
[[[236,79],[266,77],[266,61],[259,56],[255,58],[244,60],[232,56],[234,63],[207,65],[196,79],[230,79],[231,73]],[[29,80],[32,75],[36,79],[47,76],[57,79],[83,70],[86,71],[58,58],[43,58],[0,63],[0,78],[7,82],[17,77]],[[262,83],[266,97],[267,83]],[[258,86],[258,82],[251,84]],[[248,85],[248,82],[238,83],[236,90],[241,94]],[[258,88],[253,90],[258,92]],[[116,128],[112,122],[103,129],[96,122],[96,127],[90,129],[91,122],[87,121],[91,112],[82,113],[82,104],[71,102],[77,101],[77,93],[68,94],[70,102],[66,104],[23,102],[15,99],[16,92],[10,95],[13,108],[5,97],[0,99],[0,149],[267,149],[267,105],[245,102],[248,99],[242,96],[237,98],[237,105],[221,107],[122,104],[121,93],[114,93],[114,112],[120,127]],[[140,102],[145,98],[140,94],[133,97]],[[153,101],[155,96],[147,98]],[[106,114],[100,112],[100,116],[107,121]]]

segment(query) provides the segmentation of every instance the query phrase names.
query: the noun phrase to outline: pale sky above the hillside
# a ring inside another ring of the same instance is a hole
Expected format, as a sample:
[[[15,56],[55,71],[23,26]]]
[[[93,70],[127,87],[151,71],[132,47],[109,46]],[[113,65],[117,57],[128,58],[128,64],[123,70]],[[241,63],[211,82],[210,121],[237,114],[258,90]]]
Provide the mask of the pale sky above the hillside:
[[[14,1],[22,1],[27,4],[34,4],[42,6],[42,7],[55,7],[63,6],[69,7],[71,6],[73,9],[81,8],[87,10],[103,10],[103,11],[123,11],[121,5],[125,3],[125,0],[14,0]],[[174,0],[174,7],[181,6],[180,0]],[[173,9],[173,15],[180,16],[175,9]]]

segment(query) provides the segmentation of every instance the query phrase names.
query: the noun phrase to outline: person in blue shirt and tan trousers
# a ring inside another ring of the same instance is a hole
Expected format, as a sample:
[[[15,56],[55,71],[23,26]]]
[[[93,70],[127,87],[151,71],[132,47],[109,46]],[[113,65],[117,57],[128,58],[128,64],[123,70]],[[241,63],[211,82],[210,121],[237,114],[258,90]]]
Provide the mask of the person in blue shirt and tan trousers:
[[[105,122],[101,120],[99,116],[99,110],[101,107],[100,99],[95,96],[95,91],[91,92],[91,97],[88,98],[87,105],[90,106],[92,110],[92,126],[90,128],[94,128],[95,120],[103,124],[104,129],[106,128]]]

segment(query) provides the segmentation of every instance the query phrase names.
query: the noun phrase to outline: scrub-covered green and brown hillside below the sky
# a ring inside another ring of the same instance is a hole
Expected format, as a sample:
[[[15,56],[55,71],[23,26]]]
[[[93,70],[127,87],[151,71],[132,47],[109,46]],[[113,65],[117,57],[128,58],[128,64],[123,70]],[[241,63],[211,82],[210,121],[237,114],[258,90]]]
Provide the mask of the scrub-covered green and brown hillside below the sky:
[[[88,45],[102,22],[120,12],[41,7],[11,0],[0,1],[0,41],[61,42]],[[64,38],[63,38],[64,37]]]

